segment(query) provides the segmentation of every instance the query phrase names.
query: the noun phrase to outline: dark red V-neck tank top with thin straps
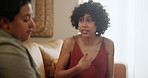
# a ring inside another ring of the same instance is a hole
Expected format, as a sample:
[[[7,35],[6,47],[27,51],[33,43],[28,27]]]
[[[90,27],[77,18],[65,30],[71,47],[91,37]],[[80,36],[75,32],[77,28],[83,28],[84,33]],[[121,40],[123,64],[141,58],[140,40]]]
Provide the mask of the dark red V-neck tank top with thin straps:
[[[68,68],[72,68],[78,64],[83,54],[75,40],[73,51],[71,52]],[[72,78],[106,78],[107,73],[107,52],[104,45],[104,40],[96,58],[92,61],[89,68],[82,70]]]

